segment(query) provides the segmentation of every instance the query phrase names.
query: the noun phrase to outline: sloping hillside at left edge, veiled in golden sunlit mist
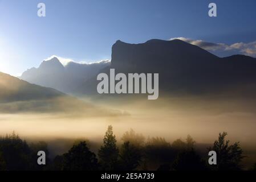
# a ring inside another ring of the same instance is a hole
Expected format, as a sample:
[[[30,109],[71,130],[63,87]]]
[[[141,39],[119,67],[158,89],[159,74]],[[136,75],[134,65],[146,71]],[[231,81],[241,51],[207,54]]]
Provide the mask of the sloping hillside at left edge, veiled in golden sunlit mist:
[[[56,62],[58,65],[58,62]],[[60,113],[78,116],[113,116],[119,111],[97,107],[58,90],[30,84],[0,72],[0,113]]]

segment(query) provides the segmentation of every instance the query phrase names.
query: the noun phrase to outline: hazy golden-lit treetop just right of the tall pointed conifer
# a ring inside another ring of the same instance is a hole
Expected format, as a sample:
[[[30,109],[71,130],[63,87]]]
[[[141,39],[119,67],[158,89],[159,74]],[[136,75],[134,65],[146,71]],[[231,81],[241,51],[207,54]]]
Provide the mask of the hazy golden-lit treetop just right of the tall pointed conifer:
[[[126,131],[121,140],[140,147],[145,143],[145,137],[142,134],[136,134],[133,129]]]

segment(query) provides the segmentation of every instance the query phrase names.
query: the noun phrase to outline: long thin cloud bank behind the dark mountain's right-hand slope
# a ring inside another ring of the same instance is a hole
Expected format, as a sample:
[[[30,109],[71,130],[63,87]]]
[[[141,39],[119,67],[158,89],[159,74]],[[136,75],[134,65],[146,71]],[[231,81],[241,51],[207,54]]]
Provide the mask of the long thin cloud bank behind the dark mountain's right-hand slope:
[[[178,38],[171,38],[169,40],[174,40],[174,39],[180,39],[183,40],[184,42],[196,45],[198,47],[201,47],[207,51],[237,51],[237,53],[242,53],[247,56],[256,56],[256,41],[250,42],[250,43],[234,43],[231,45],[224,44],[224,43],[211,43],[211,42],[205,42],[204,40],[194,40],[194,39],[189,39],[189,38],[183,38],[183,37],[178,37]]]

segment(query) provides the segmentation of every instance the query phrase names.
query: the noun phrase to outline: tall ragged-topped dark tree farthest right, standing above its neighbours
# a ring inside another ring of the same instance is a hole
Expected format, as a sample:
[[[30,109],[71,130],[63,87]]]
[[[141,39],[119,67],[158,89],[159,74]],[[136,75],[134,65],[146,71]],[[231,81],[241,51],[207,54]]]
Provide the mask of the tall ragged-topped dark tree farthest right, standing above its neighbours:
[[[209,151],[216,151],[217,165],[212,165],[214,170],[241,170],[241,160],[245,157],[242,156],[242,149],[239,142],[229,145],[229,140],[225,140],[227,133],[220,133],[218,140],[213,143]]]

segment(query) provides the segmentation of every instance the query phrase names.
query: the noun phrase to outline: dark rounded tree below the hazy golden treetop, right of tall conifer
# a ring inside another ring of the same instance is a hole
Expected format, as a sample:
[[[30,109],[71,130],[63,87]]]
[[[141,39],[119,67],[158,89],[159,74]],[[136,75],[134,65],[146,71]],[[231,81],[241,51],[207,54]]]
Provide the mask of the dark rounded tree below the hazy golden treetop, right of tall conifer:
[[[132,171],[139,166],[140,161],[141,151],[139,147],[131,144],[130,142],[124,142],[120,149],[121,169]]]

